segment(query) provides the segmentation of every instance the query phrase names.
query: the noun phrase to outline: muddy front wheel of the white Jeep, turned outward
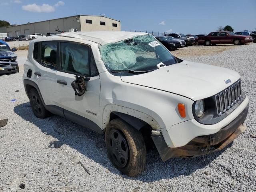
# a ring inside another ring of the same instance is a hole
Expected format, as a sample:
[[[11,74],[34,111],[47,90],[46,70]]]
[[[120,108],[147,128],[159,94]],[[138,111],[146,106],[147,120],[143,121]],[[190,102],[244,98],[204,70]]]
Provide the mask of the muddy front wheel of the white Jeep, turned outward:
[[[108,124],[105,142],[108,157],[118,170],[128,176],[145,170],[146,146],[141,132],[117,118]]]

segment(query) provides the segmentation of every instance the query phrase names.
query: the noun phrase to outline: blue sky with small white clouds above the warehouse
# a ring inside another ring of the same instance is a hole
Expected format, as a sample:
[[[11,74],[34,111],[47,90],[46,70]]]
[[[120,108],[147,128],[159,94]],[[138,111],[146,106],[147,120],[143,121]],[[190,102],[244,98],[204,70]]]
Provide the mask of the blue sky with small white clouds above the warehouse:
[[[121,20],[122,30],[208,34],[256,28],[256,0],[0,0],[0,20],[24,24],[77,14]]]

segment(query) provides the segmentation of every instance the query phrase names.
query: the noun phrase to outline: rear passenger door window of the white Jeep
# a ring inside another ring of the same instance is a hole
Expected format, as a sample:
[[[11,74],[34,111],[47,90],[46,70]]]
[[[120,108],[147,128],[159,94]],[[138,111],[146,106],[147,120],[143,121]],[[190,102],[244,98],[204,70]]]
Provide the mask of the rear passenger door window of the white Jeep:
[[[40,63],[46,67],[57,68],[57,42],[41,42],[41,60]]]

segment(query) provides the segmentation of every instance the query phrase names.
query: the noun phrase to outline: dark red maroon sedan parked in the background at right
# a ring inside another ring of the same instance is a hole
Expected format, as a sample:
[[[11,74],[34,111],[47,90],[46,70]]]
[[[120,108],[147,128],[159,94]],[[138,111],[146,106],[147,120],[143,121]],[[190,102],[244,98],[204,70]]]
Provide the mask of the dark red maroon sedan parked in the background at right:
[[[198,43],[206,46],[216,44],[243,45],[248,42],[252,42],[252,37],[237,35],[230,31],[210,32],[207,36],[198,37]]]

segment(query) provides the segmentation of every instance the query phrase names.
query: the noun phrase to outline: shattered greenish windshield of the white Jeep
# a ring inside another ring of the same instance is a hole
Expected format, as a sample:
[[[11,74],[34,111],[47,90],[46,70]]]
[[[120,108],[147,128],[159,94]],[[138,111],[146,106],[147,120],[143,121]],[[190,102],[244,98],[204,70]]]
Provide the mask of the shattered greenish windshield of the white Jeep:
[[[130,39],[100,46],[102,60],[109,72],[112,70],[155,70],[161,62],[177,63],[172,54],[152,35],[134,36]]]

